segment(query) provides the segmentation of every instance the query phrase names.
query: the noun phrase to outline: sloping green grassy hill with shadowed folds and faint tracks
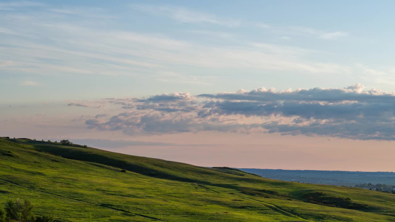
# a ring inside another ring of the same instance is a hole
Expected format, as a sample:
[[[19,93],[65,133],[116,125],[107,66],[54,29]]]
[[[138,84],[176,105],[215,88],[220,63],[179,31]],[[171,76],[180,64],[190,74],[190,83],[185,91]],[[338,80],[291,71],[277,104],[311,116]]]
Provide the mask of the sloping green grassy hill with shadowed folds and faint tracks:
[[[14,198],[69,222],[395,221],[393,194],[0,137],[0,202]]]

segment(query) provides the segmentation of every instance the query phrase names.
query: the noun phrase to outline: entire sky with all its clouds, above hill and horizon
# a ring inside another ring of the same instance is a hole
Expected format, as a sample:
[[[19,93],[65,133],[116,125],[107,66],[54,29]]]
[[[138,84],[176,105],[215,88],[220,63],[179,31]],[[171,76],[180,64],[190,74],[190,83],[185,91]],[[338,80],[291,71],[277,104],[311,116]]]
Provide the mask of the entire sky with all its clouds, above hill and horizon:
[[[0,135],[394,171],[392,1],[0,1]]]

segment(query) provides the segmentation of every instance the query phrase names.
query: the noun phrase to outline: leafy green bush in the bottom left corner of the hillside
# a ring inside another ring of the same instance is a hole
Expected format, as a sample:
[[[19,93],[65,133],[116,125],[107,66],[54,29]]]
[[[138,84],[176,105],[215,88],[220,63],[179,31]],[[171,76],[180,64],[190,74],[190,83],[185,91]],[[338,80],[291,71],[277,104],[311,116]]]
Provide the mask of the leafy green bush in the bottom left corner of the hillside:
[[[23,202],[20,199],[9,200],[6,203],[6,212],[7,216],[11,220],[21,220],[24,222],[34,222],[34,214],[33,214],[34,206],[30,201],[24,200]]]

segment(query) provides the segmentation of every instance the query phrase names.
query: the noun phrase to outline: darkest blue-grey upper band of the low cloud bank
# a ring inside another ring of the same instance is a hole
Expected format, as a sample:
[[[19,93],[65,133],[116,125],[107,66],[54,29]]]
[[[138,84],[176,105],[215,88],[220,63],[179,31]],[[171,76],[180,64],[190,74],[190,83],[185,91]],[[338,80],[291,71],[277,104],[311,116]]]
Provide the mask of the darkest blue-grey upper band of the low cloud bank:
[[[284,117],[302,117],[306,119],[366,119],[373,117],[393,117],[395,103],[306,103],[294,101],[216,101],[208,102],[205,112],[201,116],[219,115],[245,115],[269,116],[281,115]]]

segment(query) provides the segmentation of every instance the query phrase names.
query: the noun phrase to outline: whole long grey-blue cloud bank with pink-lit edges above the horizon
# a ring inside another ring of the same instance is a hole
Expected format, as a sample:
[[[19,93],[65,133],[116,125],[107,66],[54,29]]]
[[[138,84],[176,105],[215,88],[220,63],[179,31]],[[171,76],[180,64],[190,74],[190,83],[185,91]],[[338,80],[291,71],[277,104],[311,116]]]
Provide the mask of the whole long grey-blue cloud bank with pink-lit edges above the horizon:
[[[218,131],[395,140],[395,93],[364,90],[359,83],[345,88],[260,88],[107,101],[130,111],[88,119],[88,128],[131,135]]]

